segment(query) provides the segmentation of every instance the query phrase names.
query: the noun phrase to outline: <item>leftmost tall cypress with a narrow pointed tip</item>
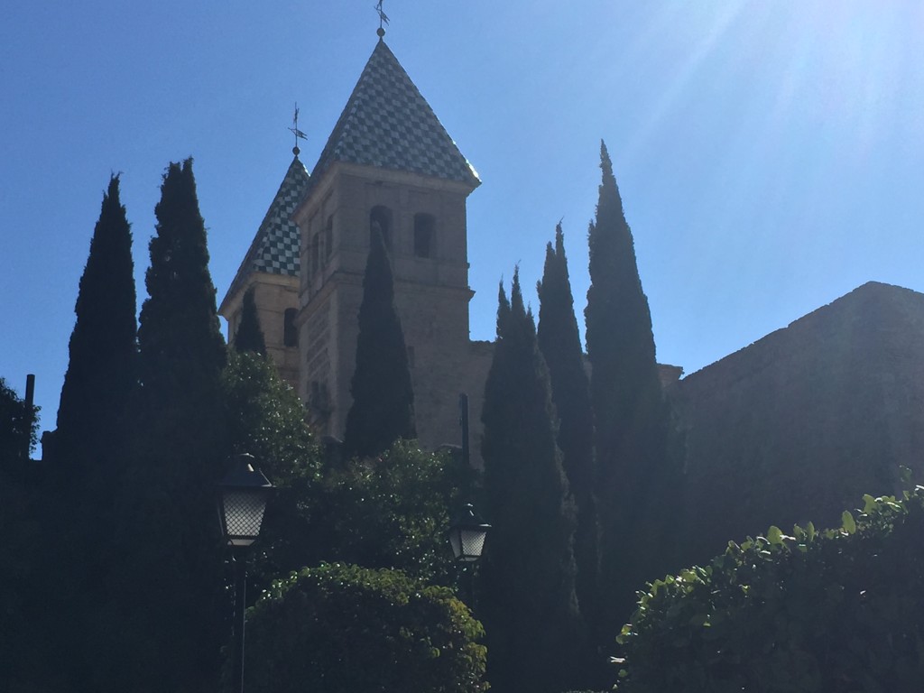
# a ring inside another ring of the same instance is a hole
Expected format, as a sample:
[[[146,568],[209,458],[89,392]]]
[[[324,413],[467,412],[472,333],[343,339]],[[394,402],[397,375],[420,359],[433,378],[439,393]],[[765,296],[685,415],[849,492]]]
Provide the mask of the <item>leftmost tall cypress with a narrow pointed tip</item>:
[[[116,571],[111,528],[118,521],[114,505],[125,472],[126,412],[137,382],[135,308],[131,231],[119,201],[119,178],[111,176],[80,277],[55,444],[48,455],[59,483],[43,517],[45,552],[69,576],[67,588],[55,590],[60,603],[53,613],[60,624],[52,631],[61,639],[47,644],[67,653],[59,668],[68,670],[78,690],[97,656],[93,629],[85,625]]]

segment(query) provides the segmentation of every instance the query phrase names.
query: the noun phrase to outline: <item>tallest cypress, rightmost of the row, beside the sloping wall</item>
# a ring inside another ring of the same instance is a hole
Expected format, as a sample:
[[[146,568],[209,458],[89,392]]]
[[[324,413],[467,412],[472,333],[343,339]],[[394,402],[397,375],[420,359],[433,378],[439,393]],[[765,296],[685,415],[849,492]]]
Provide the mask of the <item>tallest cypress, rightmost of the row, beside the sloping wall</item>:
[[[648,298],[638,277],[613,165],[601,143],[602,183],[590,224],[587,349],[596,420],[601,574],[606,585],[599,637],[612,636],[631,613],[635,590],[663,575],[663,518],[671,512],[666,407]]]

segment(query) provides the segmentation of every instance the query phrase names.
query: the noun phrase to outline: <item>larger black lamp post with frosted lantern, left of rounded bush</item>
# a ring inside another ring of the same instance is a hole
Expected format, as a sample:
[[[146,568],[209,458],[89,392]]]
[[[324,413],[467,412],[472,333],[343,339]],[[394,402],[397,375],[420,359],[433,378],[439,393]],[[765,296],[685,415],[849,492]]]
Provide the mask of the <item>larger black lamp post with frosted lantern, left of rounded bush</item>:
[[[222,536],[231,547],[235,564],[235,675],[244,691],[244,602],[247,590],[245,553],[260,534],[266,500],[273,484],[253,468],[252,455],[238,455],[235,467],[218,484]]]

